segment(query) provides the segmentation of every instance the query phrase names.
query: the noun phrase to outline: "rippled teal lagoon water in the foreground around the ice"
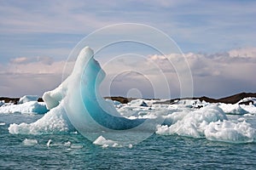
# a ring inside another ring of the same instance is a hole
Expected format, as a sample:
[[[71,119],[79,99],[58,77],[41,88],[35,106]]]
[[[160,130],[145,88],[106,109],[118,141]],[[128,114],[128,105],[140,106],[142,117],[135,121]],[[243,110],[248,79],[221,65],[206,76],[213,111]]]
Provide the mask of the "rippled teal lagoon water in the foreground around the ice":
[[[104,148],[92,144],[81,134],[73,132],[41,135],[9,133],[9,124],[35,122],[41,117],[41,115],[0,114],[0,169],[255,169],[256,167],[255,142],[231,144],[204,138],[154,133],[148,139],[133,144],[132,147]],[[255,116],[251,116],[247,121],[255,128]]]

